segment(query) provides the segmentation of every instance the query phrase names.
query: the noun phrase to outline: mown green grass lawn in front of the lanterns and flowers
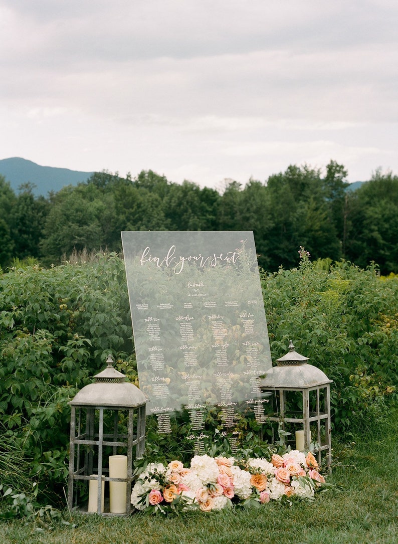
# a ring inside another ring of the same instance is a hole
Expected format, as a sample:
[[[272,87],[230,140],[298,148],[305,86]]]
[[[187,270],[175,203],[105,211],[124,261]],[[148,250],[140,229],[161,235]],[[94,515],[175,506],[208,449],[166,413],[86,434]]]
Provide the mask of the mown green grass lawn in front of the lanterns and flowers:
[[[190,512],[163,518],[73,514],[76,528],[57,523],[38,533],[33,521],[0,522],[2,544],[396,544],[397,425],[334,444],[328,481],[338,486],[313,502],[270,502],[248,511]],[[65,512],[65,519],[69,514]]]

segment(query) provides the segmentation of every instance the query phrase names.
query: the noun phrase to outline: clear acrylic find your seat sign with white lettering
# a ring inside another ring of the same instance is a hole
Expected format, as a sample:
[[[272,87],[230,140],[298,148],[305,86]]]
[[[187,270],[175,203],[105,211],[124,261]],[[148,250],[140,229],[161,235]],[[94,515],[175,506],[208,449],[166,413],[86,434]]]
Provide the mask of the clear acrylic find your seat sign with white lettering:
[[[253,233],[122,232],[140,389],[158,432],[185,411],[195,453],[216,407],[232,448],[237,415],[264,421],[271,354]]]

